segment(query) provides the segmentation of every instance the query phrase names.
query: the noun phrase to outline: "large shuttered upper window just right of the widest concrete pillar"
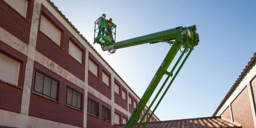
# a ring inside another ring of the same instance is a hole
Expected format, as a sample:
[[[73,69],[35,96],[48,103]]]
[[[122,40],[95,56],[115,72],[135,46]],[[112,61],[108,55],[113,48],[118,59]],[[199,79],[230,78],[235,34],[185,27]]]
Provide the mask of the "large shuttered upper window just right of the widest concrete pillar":
[[[41,16],[40,31],[47,35],[53,42],[60,46],[61,31],[53,25],[46,17]]]

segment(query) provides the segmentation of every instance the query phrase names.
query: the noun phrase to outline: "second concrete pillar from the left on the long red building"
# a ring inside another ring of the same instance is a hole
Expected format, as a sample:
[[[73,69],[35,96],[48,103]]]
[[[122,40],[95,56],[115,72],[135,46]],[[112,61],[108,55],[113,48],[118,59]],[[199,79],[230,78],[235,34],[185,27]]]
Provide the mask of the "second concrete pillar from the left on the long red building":
[[[89,63],[89,51],[86,49],[85,50],[85,71],[84,71],[83,128],[86,128],[86,124],[87,124],[88,63]]]

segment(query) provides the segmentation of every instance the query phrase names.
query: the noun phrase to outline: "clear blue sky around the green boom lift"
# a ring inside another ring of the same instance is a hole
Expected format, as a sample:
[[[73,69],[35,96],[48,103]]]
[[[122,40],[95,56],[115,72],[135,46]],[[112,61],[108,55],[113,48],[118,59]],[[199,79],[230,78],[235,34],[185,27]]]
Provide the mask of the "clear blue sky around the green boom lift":
[[[116,41],[197,25],[199,45],[156,110],[160,120],[211,116],[256,52],[255,0],[52,1],[91,44],[93,22],[103,13],[117,24]],[[93,47],[139,97],[170,49],[144,44],[109,56]]]

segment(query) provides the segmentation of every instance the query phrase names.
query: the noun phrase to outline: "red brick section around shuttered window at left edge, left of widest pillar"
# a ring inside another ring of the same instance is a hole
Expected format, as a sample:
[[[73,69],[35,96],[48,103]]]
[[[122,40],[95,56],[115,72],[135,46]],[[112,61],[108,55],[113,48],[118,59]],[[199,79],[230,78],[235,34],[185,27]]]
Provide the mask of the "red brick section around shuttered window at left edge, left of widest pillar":
[[[19,61],[18,87],[0,82],[0,109],[20,113],[27,56],[0,41],[0,52]]]

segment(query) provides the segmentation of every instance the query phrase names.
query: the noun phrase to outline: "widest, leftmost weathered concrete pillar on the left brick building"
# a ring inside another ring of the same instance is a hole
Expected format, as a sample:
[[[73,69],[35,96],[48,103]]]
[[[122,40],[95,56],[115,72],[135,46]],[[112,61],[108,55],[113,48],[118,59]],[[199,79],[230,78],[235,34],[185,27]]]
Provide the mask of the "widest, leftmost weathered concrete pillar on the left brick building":
[[[23,86],[22,101],[21,101],[21,113],[25,115],[28,115],[29,113],[29,102],[30,102],[30,94],[31,94],[32,75],[33,75],[34,60],[35,60],[40,10],[41,10],[41,0],[35,0],[34,7],[33,7],[32,20],[31,20],[30,36],[29,36],[28,60],[27,60],[26,69],[25,69],[25,78],[24,78],[24,86]]]

